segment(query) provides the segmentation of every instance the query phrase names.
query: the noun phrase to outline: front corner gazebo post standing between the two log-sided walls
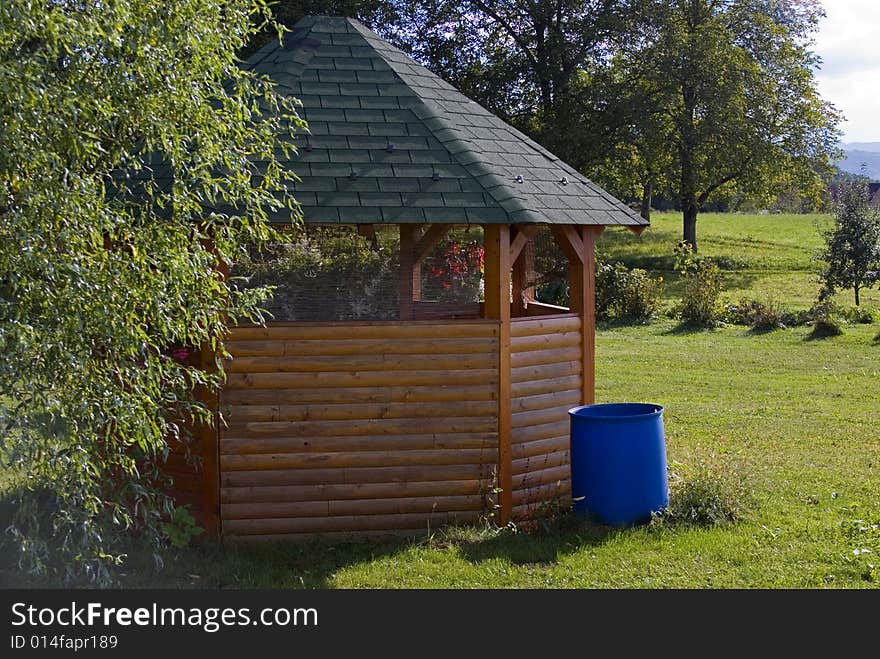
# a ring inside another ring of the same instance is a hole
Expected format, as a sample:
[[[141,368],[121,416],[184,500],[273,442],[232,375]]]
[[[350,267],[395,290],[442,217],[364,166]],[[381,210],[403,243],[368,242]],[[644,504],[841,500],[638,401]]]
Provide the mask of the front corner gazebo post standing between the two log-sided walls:
[[[510,227],[484,227],[486,318],[499,321],[498,332],[498,487],[499,523],[507,524],[513,510],[513,456],[510,401]]]

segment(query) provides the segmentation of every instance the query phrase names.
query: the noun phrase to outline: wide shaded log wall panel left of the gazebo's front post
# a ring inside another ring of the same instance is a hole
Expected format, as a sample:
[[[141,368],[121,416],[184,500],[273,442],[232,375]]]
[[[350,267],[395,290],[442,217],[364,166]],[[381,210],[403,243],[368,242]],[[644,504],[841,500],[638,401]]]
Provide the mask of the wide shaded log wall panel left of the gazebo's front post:
[[[489,509],[497,323],[240,327],[227,347],[225,536],[427,530]]]

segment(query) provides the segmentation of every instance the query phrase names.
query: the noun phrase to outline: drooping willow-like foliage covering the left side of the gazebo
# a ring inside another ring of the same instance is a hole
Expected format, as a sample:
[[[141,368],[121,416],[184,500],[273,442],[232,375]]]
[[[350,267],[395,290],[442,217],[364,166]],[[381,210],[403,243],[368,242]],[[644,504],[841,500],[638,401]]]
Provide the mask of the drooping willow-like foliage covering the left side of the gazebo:
[[[0,3],[0,451],[33,573],[106,584],[132,532],[160,551],[166,440],[210,421],[195,392],[222,377],[170,351],[260,317],[265,292],[218,269],[270,235],[268,209],[295,216],[275,154],[300,122],[238,67],[254,16]]]

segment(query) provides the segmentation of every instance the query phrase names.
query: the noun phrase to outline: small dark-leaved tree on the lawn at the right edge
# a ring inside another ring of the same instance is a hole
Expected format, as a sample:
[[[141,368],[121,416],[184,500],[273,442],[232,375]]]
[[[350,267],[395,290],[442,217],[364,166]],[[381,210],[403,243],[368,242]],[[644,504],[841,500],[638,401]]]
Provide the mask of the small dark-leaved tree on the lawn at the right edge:
[[[859,291],[880,281],[880,210],[871,205],[868,185],[841,183],[834,203],[834,226],[823,232],[825,262],[820,297],[838,288],[851,288],[859,306]]]

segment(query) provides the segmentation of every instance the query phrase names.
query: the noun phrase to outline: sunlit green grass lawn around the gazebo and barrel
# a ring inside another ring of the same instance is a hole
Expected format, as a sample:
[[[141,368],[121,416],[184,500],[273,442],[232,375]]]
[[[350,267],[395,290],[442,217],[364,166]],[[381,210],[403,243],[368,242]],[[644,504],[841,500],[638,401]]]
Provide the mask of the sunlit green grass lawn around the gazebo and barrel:
[[[726,274],[737,286],[729,292],[733,299],[776,299],[805,308],[818,290],[810,260],[820,244],[817,220],[827,222],[810,216],[703,216],[701,251],[725,259]],[[679,222],[659,216],[641,238],[608,231],[602,249],[665,273]],[[866,299],[880,303],[876,290]],[[663,405],[672,470],[704,464],[742,478],[750,496],[739,521],[609,530],[562,517],[532,532],[487,526],[435,530],[418,540],[203,546],[172,555],[158,576],[135,555],[124,583],[876,588],[878,330],[876,324],[847,325],[842,336],[810,340],[808,327],[689,332],[661,320],[599,329],[597,400]]]

